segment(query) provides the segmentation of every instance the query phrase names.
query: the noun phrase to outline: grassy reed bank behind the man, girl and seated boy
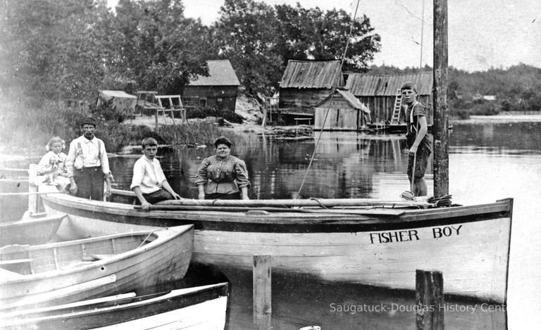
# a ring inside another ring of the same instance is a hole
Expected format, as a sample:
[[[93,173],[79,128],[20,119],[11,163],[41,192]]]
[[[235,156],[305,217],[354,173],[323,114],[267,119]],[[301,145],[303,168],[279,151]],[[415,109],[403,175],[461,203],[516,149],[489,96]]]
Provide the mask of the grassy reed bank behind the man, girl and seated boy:
[[[4,153],[44,153],[51,137],[69,142],[81,135],[80,119],[92,115],[99,120],[96,136],[104,141],[108,152],[124,146],[138,145],[144,137],[154,137],[160,144],[206,144],[211,146],[220,135],[232,141],[242,141],[237,134],[226,132],[209,122],[197,122],[177,127],[161,127],[158,132],[147,126],[125,125],[121,115],[92,113],[85,106],[66,106],[63,102],[13,101],[0,97],[0,151]],[[176,141],[175,141],[176,135]],[[65,151],[67,152],[67,150]]]

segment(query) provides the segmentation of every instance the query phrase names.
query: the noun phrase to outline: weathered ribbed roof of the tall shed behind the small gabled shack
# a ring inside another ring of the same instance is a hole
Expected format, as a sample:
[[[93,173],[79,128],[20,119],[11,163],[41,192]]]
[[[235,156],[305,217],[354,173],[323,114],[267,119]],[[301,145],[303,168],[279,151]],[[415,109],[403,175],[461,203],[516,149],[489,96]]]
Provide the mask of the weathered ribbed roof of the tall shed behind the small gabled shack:
[[[338,86],[336,86],[338,82]],[[280,88],[325,88],[344,86],[340,61],[287,61]]]

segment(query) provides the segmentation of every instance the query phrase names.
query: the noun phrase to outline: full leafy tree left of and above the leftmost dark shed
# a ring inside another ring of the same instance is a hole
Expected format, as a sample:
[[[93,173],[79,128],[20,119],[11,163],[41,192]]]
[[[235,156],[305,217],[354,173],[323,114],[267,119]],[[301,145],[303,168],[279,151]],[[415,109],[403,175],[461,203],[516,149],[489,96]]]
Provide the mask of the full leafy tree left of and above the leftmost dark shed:
[[[142,89],[178,94],[197,75],[208,75],[206,60],[216,56],[209,28],[184,17],[180,0],[120,0],[116,74]]]

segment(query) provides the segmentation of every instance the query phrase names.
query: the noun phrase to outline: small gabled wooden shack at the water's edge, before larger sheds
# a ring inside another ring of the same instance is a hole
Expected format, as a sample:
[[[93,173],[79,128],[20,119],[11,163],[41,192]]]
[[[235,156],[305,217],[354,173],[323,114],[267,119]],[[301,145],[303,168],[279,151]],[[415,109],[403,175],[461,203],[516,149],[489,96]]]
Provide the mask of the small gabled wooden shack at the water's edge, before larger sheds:
[[[323,127],[326,131],[358,131],[366,127],[369,120],[370,110],[359,99],[350,91],[336,89],[314,107],[313,129]]]

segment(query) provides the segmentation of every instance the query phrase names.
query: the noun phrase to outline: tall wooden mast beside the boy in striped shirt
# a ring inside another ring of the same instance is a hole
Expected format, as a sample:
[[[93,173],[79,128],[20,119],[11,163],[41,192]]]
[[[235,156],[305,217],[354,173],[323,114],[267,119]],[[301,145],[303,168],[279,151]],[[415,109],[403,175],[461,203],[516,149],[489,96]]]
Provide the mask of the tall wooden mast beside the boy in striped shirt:
[[[434,0],[434,197],[449,193],[447,0]]]

